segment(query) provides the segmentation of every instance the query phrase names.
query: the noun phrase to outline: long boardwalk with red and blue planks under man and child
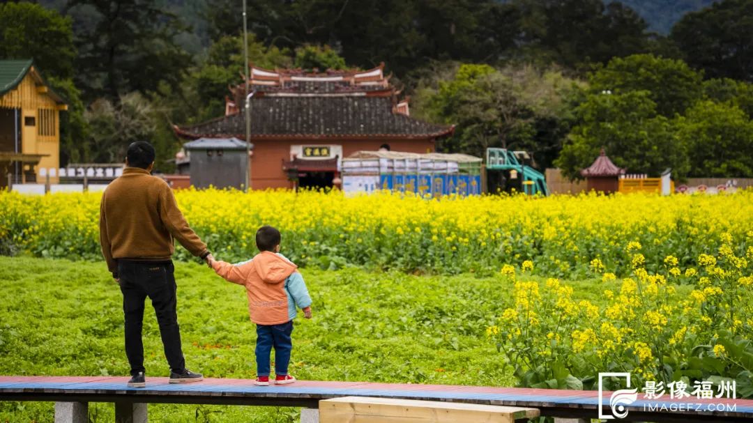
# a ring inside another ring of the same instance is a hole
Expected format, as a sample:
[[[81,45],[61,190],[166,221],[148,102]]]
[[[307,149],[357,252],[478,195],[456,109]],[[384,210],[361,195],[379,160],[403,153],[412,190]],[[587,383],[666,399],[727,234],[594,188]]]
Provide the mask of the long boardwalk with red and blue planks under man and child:
[[[146,388],[127,388],[126,382],[126,377],[0,376],[0,400],[317,408],[319,400],[334,397],[391,397],[534,407],[541,410],[541,415],[571,418],[596,418],[598,404],[596,391],[313,381],[255,386],[251,379],[204,379],[203,382],[170,385],[166,378],[147,378]],[[649,403],[651,406],[666,406],[666,409],[646,411],[645,406]],[[700,409],[694,406],[693,409],[676,410],[681,403],[699,403]],[[710,404],[714,404],[714,409],[707,407]],[[733,409],[719,407],[719,404],[733,406]],[[696,397],[669,400],[665,396],[662,400],[650,402],[639,399],[628,409],[628,418],[623,421],[753,421],[753,400],[698,400]]]

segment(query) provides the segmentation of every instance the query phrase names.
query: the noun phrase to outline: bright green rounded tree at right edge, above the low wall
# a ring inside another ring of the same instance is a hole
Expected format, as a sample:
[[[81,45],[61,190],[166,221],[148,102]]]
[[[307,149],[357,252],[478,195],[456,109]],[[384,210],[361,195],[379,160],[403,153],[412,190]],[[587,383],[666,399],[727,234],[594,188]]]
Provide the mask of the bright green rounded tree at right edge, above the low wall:
[[[691,175],[753,177],[753,122],[735,105],[697,102],[676,126],[690,158]]]

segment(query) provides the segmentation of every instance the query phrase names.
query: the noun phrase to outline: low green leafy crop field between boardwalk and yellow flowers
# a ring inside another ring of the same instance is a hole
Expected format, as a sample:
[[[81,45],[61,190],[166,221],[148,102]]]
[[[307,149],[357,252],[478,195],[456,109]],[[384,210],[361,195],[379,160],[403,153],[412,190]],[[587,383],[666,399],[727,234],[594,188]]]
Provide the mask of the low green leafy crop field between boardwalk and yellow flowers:
[[[507,278],[302,272],[314,318],[296,320],[297,378],[516,384],[485,333],[511,303]],[[242,288],[196,263],[176,263],[175,277],[188,367],[207,377],[254,377],[255,327]],[[601,282],[572,285],[578,298],[600,303]],[[121,295],[103,263],[0,257],[0,292],[0,375],[127,375]],[[151,306],[144,337],[147,376],[167,376]],[[152,421],[230,422],[295,421],[298,411],[156,404],[149,413]],[[113,421],[114,410],[91,404],[90,418]],[[53,404],[0,402],[0,421],[53,421]]]

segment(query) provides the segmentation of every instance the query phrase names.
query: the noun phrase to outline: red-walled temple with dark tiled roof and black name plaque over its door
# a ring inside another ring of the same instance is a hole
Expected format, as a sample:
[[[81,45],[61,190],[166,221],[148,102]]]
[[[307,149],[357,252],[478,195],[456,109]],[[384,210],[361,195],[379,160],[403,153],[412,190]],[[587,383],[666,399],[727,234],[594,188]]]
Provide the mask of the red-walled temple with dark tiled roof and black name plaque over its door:
[[[431,153],[441,126],[410,117],[407,100],[383,73],[306,73],[252,67],[245,83],[230,88],[225,115],[194,126],[175,126],[179,137],[245,140],[246,96],[250,99],[253,189],[331,187],[340,181],[340,160],[356,151]]]

